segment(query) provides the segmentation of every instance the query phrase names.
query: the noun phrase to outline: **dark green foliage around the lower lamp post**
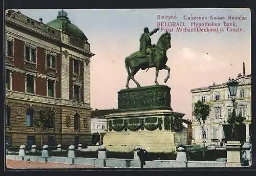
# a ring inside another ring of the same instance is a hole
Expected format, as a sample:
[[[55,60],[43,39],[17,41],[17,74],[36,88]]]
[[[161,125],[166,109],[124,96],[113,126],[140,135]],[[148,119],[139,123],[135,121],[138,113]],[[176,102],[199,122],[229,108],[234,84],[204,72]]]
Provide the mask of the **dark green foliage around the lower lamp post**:
[[[245,121],[245,117],[243,117],[240,113],[236,115],[236,109],[233,108],[232,114],[228,116],[227,123],[231,126],[231,141],[238,140],[238,131],[236,125],[242,125]]]

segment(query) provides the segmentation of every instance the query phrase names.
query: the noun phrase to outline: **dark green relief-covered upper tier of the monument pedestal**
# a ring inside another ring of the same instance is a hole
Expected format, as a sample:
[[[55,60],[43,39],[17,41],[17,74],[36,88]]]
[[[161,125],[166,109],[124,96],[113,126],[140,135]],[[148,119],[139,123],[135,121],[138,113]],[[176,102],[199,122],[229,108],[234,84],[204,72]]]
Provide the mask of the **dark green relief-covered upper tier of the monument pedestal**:
[[[124,89],[118,92],[118,109],[168,109],[170,87],[166,85]]]

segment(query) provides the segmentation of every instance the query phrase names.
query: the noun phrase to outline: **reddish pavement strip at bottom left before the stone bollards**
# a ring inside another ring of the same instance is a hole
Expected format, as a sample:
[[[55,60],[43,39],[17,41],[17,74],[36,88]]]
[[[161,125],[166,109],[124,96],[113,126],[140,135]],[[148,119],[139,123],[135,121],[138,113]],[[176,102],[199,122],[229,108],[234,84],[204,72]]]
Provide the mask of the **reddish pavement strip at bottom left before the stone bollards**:
[[[62,164],[62,163],[38,163],[32,161],[6,160],[6,167],[12,169],[57,169],[57,168],[100,168],[89,165]]]

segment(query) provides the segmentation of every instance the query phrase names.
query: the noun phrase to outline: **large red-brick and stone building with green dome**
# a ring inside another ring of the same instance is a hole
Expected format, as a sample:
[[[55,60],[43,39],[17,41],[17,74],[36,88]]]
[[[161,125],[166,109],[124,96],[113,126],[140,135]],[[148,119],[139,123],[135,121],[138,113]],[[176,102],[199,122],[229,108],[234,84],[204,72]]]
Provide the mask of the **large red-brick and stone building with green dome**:
[[[44,144],[88,144],[90,135],[90,43],[65,11],[48,24],[6,11],[6,142],[41,144],[34,124],[50,107],[53,125]]]

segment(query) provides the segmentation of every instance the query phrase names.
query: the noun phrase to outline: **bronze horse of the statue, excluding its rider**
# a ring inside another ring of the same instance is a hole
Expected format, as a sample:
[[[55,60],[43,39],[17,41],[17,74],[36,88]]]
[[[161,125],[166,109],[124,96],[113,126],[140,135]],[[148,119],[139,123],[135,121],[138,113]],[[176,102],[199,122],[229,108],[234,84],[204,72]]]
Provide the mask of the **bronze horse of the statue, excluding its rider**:
[[[168,74],[166,78],[164,79],[164,82],[167,82],[170,75],[170,68],[166,65],[167,62],[167,56],[166,51],[171,47],[170,46],[170,33],[166,32],[160,36],[158,39],[157,45],[155,46],[155,54],[153,57],[152,62],[154,63],[150,68],[155,67],[156,68],[156,78],[155,83],[158,84],[157,77],[159,70],[167,70]],[[148,57],[146,58],[139,58],[140,51],[137,51],[130,56],[125,58],[125,68],[128,73],[127,81],[126,81],[126,88],[129,89],[129,81],[132,79],[137,87],[140,87],[140,84],[136,79],[134,78],[134,75],[141,69],[145,70],[148,68]]]

